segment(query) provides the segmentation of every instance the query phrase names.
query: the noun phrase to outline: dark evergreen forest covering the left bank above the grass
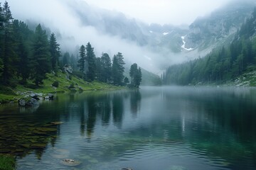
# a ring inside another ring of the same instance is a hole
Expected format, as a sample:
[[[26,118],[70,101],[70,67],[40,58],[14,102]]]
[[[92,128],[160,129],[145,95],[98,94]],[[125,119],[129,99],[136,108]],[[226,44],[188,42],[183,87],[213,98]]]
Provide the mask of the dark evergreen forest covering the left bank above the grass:
[[[105,52],[96,57],[94,47],[87,42],[80,45],[78,54],[62,53],[55,33],[46,32],[41,24],[31,30],[26,23],[12,17],[7,1],[0,4],[0,86],[15,87],[28,81],[41,86],[48,73],[58,76],[60,70],[89,82],[115,86],[129,82],[126,77],[124,83],[125,63],[121,52],[112,59]]]

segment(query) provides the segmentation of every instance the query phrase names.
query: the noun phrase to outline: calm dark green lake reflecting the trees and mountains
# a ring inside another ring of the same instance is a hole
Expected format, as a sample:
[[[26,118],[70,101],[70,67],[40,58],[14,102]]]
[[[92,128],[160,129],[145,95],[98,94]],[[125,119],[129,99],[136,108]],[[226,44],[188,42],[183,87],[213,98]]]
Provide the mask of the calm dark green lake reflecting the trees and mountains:
[[[256,89],[143,87],[4,105],[0,152],[18,170],[256,169]]]

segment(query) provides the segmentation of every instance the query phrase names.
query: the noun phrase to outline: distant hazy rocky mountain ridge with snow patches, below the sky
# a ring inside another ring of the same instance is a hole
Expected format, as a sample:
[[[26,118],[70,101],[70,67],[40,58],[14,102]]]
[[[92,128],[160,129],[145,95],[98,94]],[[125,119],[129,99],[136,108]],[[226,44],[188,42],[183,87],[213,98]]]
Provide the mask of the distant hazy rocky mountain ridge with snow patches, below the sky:
[[[121,12],[89,6],[85,1],[72,1],[69,5],[85,26],[100,33],[118,36],[153,52],[167,50],[194,58],[231,42],[256,2],[232,1],[208,16],[197,18],[190,26],[148,25]]]

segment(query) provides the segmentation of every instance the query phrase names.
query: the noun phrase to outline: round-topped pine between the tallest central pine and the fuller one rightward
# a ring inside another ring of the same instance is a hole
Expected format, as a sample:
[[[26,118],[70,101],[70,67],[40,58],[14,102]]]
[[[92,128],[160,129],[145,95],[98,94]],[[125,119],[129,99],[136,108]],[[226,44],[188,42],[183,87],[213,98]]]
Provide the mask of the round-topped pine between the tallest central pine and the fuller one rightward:
[[[102,63],[102,81],[107,83],[111,79],[112,71],[110,56],[107,53],[102,53],[100,60]]]

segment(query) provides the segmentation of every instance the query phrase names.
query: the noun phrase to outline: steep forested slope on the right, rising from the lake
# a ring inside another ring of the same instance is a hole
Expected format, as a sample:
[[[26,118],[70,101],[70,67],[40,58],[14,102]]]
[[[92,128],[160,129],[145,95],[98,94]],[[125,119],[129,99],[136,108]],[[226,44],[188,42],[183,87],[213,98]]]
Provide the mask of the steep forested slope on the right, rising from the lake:
[[[164,84],[231,84],[255,86],[256,8],[230,44],[217,47],[206,57],[176,64],[164,74]]]

